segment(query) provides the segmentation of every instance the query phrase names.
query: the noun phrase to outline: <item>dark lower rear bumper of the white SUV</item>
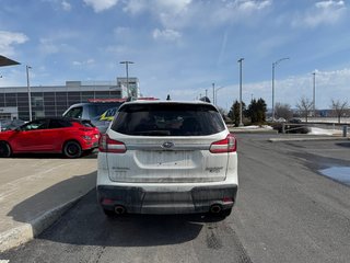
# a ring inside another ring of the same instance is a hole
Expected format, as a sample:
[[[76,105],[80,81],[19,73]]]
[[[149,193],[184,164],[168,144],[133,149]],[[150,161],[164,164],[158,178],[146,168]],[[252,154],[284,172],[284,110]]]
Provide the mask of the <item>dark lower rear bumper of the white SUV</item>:
[[[120,205],[137,214],[208,213],[212,205],[233,207],[237,185],[192,187],[186,192],[150,192],[142,187],[98,185],[97,198],[104,209]]]

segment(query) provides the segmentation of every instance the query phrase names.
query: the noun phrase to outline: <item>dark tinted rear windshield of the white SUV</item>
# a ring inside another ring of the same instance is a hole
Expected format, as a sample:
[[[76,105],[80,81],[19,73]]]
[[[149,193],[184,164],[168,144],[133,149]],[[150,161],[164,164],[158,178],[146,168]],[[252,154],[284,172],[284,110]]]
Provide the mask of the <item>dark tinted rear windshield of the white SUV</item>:
[[[156,103],[125,105],[112,129],[136,136],[203,136],[220,133],[225,125],[209,104]]]

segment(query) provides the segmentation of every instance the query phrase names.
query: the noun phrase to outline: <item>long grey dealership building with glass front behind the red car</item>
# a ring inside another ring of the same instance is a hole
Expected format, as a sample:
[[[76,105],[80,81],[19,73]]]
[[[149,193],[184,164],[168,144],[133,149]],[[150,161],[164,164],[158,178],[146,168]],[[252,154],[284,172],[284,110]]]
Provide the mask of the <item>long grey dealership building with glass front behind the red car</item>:
[[[92,99],[139,95],[138,78],[117,78],[116,81],[67,81],[66,85],[0,87],[0,119],[28,121],[30,101],[32,118],[35,119],[61,116],[70,105]]]

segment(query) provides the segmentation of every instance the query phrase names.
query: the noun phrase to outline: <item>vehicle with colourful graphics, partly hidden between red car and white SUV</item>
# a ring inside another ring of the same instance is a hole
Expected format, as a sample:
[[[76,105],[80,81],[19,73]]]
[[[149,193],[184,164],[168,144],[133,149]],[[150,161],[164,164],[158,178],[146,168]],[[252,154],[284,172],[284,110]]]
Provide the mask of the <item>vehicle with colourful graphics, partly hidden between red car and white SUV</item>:
[[[100,101],[100,102],[84,102],[71,105],[65,113],[65,117],[90,119],[101,133],[107,129],[105,121],[101,121],[100,116],[112,107],[119,107],[122,101]],[[109,124],[109,123],[108,123]]]

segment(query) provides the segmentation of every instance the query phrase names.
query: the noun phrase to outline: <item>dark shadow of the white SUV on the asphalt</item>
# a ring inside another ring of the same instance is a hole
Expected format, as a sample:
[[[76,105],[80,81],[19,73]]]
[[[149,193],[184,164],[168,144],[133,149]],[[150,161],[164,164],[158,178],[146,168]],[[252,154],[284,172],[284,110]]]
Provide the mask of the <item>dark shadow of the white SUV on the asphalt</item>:
[[[200,215],[127,214],[108,218],[93,190],[38,239],[78,245],[166,245],[196,239],[203,221]]]

